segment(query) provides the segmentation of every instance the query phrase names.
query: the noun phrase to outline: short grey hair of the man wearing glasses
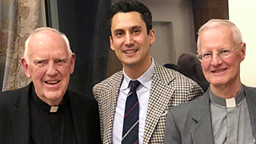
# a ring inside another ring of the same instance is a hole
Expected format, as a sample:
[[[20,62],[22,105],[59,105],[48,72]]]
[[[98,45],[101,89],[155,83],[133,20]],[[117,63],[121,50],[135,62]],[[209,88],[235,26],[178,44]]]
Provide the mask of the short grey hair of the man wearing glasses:
[[[226,20],[226,19],[210,19],[208,22],[202,25],[198,30],[198,42],[197,42],[198,50],[200,50],[200,38],[199,38],[200,34],[202,33],[203,30],[206,30],[207,28],[211,28],[214,26],[228,26],[233,33],[234,42],[238,42],[238,43],[243,42],[242,33],[238,29],[238,27],[234,24],[234,22],[231,22],[230,20]]]

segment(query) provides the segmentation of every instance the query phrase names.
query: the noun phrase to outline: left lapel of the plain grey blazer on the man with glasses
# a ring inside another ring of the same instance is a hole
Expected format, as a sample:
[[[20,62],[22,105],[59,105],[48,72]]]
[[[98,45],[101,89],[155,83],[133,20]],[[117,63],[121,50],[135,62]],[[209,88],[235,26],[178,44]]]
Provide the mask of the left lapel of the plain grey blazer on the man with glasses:
[[[210,100],[209,100],[209,90],[206,91],[198,102],[197,107],[194,109],[194,114],[192,118],[197,124],[194,126],[194,130],[191,131],[191,137],[193,143],[213,144],[213,134],[211,127],[211,117],[210,117]]]

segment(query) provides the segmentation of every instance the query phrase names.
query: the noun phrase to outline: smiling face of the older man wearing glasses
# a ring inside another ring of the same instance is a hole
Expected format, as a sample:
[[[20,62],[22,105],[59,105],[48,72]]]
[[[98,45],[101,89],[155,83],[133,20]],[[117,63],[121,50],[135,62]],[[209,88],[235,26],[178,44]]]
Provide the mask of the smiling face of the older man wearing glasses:
[[[214,54],[210,61],[202,61],[202,70],[210,86],[232,86],[240,84],[240,63],[245,58],[245,43],[234,42],[233,33],[228,26],[206,28],[199,35],[200,50],[216,53],[222,48],[235,48],[228,58]]]

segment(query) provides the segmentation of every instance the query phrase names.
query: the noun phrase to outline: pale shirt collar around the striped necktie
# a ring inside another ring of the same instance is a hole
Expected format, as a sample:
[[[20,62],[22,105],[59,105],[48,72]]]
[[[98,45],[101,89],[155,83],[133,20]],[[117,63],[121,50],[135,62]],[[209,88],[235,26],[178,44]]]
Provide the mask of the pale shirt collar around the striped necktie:
[[[139,82],[141,82],[141,85],[145,86],[147,89],[150,89],[150,86],[151,86],[151,79],[152,79],[153,73],[154,73],[154,66],[155,66],[154,59],[151,58],[150,68],[148,70],[146,70],[146,72],[144,74],[142,74],[139,78],[137,78],[137,80]],[[123,70],[123,68],[122,68],[122,72],[123,72],[124,78],[123,78],[122,86],[120,87],[120,89],[126,90],[129,87],[130,80],[132,80],[132,79],[126,75],[126,72],[125,72],[125,70]]]

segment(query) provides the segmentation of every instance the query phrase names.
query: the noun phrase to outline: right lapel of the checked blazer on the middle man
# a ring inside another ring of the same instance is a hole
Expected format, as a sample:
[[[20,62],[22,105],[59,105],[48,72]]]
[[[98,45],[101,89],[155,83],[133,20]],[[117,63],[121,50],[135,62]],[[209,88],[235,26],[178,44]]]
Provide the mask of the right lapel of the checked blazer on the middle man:
[[[143,136],[143,143],[149,143],[150,138],[158,124],[159,118],[163,114],[167,114],[166,106],[170,102],[170,97],[174,92],[174,88],[169,85],[173,80],[172,78],[166,78],[159,71],[160,67],[158,63],[155,62],[154,76],[152,79],[152,84],[150,88],[150,99],[148,104],[148,109],[146,112],[146,126]]]

